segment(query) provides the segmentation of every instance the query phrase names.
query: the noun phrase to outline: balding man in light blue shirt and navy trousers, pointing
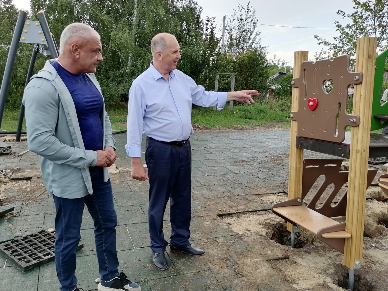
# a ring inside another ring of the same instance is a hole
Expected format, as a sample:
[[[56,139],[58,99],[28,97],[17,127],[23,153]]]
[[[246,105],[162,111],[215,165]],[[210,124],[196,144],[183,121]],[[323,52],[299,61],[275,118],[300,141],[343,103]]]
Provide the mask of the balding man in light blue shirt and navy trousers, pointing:
[[[132,162],[132,178],[149,180],[149,233],[152,262],[160,270],[167,269],[165,249],[168,242],[163,234],[163,215],[170,201],[173,253],[192,256],[204,254],[192,246],[191,221],[191,106],[217,106],[237,100],[253,103],[255,90],[237,92],[205,91],[195,81],[177,70],[181,58],[175,36],[159,33],[151,40],[153,61],[149,69],[137,77],[129,90],[127,144]],[[143,133],[147,135],[145,162],[140,161]]]

